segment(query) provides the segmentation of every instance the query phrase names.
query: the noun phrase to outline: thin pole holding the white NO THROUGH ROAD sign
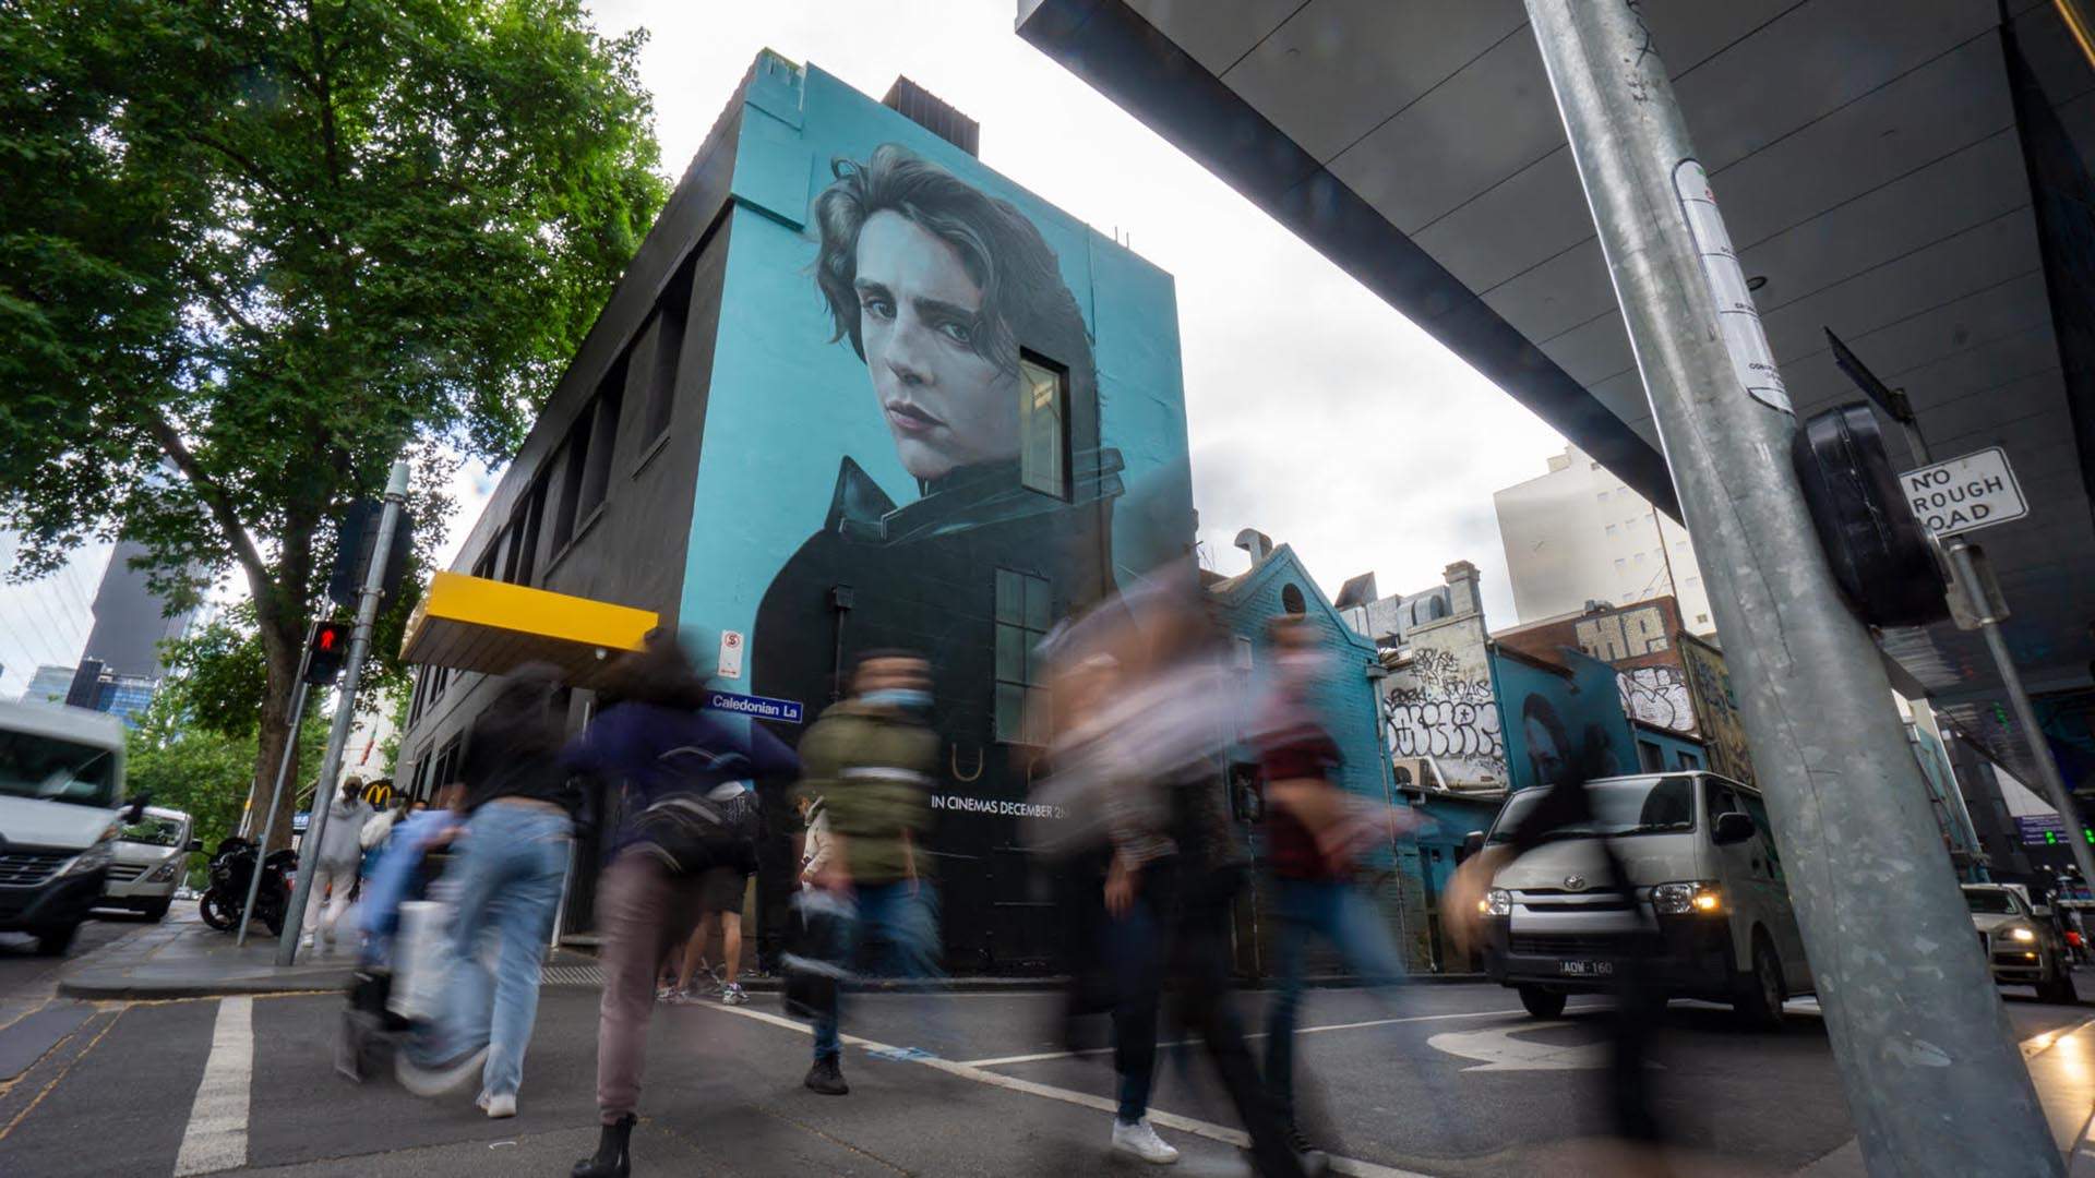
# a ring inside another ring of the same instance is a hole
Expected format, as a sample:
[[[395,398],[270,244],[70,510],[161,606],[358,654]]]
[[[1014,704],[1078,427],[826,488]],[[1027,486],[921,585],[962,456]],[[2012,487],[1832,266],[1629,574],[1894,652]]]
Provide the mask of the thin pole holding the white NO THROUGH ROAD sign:
[[[1877,379],[1877,373],[1869,371],[1869,365],[1831,329],[1827,331],[1827,342],[1833,346],[1835,367],[1906,432],[1906,449],[1913,451],[1913,459],[1921,465],[1934,465],[1936,457],[1927,449],[1927,438],[1921,434],[1921,417],[1913,411],[1906,390],[1890,388]],[[2015,723],[2022,727],[2022,742],[2030,748],[2030,761],[2036,765],[2045,801],[2051,803],[2051,809],[2059,811],[2059,822],[2066,824],[2066,832],[2070,834],[2066,843],[2074,855],[2074,866],[2080,868],[2080,880],[2085,887],[2095,887],[2095,847],[2089,847],[2087,836],[2080,832],[2080,809],[2074,805],[2072,790],[2066,788],[2066,778],[2059,773],[2057,757],[2051,755],[2045,729],[2036,723],[2036,706],[2030,704],[2030,694],[2022,688],[2022,671],[2015,667],[2015,656],[2007,650],[2007,635],[2001,633],[2001,623],[2007,620],[2007,599],[2001,595],[1999,583],[1982,566],[1984,549],[1957,535],[1942,541],[1942,555],[1957,579],[1950,593],[1963,593],[1971,623],[1986,637],[1986,650],[1992,654],[1992,667],[2001,675],[2001,690],[2007,694],[2007,704],[2015,708]]]

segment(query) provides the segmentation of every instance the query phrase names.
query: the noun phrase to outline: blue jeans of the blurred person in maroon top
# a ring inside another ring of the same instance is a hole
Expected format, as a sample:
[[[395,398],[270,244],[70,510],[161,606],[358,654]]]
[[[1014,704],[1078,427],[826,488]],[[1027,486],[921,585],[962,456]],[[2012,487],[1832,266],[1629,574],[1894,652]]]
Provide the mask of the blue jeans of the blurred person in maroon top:
[[[1295,1015],[1303,998],[1303,950],[1316,933],[1330,941],[1366,985],[1404,981],[1404,958],[1366,893],[1341,880],[1274,880],[1280,937],[1274,945],[1274,998],[1265,1010],[1265,1084],[1280,1111],[1295,1117]]]

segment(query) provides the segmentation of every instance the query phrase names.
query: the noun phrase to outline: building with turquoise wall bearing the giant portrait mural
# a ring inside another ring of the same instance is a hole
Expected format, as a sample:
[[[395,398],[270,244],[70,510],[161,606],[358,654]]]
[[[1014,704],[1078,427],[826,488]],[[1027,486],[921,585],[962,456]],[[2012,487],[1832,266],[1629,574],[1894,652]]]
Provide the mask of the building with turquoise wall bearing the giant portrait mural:
[[[974,145],[907,80],[874,101],[758,54],[457,572],[654,610],[721,654],[721,688],[807,717],[857,654],[924,652],[947,964],[1024,973],[1052,947],[1014,817],[1033,652],[1150,570],[1190,579],[1194,518],[1171,277]],[[421,669],[413,790],[455,769],[505,669]],[[566,704],[587,723],[587,681]],[[767,841],[767,950],[796,876]],[[589,926],[589,889],[566,929]]]

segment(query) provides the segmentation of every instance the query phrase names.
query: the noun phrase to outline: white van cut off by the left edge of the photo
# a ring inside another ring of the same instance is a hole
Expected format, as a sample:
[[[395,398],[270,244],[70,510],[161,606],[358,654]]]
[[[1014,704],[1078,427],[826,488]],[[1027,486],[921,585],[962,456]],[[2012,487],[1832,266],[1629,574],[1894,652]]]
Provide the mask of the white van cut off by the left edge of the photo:
[[[0,931],[63,954],[101,903],[126,813],[124,725],[103,713],[0,700]]]

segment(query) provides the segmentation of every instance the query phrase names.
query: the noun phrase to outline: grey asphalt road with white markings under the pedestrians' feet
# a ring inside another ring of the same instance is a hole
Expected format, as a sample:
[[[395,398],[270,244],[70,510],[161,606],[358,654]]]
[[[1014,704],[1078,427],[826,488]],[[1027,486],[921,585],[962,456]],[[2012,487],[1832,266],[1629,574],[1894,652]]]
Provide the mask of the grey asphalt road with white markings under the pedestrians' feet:
[[[0,970],[15,964],[0,950]],[[17,977],[44,979],[0,973]],[[1257,1031],[1259,996],[1242,1004]],[[522,1113],[488,1121],[471,1094],[417,1100],[388,1079],[335,1075],[341,1002],[331,996],[98,1004],[0,1090],[0,1174],[161,1178],[180,1157],[214,1149],[287,1174],[566,1174],[595,1138],[595,1006],[589,985],[545,989]],[[1372,1163],[1353,1168],[1360,1174],[1580,1172],[1567,1151],[1601,1130],[1598,1006],[1538,1023],[1510,991],[1487,985],[1418,985],[1393,1006],[1364,991],[1318,991],[1303,1019],[1316,1029],[1297,1050],[1307,1119],[1339,1155]],[[1798,1006],[1774,1035],[1741,1031],[1714,1006],[1674,1004],[1666,1015],[1661,1111],[1707,1161],[1695,1172],[1722,1163],[1789,1174],[1852,1136],[1823,1027]],[[771,998],[740,1012],[658,1008],[635,1168],[796,1178],[1142,1172],[1104,1153],[1110,1056],[1066,1054],[1052,1010],[1041,994],[857,998],[846,1031],[941,1059],[853,1046],[853,1094],[825,1098],[798,1086],[809,1038]],[[2095,1015],[2026,998],[2011,998],[2009,1010],[2022,1038]],[[1177,1170],[1240,1174],[1219,1140],[1234,1117],[1198,1050],[1167,1054],[1154,1111],[1186,1151]]]

